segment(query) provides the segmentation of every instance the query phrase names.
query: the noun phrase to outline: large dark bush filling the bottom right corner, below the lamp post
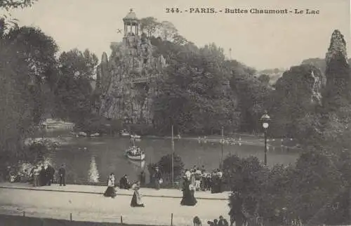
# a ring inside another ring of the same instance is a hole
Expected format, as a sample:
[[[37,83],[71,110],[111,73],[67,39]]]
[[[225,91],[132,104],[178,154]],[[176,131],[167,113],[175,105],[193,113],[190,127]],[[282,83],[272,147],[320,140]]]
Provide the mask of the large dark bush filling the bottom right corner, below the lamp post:
[[[347,225],[351,154],[343,158],[322,151],[301,154],[293,166],[268,169],[256,157],[227,157],[223,179],[230,185],[230,215],[240,220],[259,216],[264,225],[291,220],[315,225]]]

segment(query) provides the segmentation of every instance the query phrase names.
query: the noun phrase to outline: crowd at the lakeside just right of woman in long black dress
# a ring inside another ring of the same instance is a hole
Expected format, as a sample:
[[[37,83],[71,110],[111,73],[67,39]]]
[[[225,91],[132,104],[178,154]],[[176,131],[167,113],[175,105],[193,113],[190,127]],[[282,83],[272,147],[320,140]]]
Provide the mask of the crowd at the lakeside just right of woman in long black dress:
[[[191,182],[196,191],[211,191],[211,193],[222,192],[223,173],[216,169],[208,173],[204,166],[201,169],[194,166],[191,169],[185,169],[183,179]]]

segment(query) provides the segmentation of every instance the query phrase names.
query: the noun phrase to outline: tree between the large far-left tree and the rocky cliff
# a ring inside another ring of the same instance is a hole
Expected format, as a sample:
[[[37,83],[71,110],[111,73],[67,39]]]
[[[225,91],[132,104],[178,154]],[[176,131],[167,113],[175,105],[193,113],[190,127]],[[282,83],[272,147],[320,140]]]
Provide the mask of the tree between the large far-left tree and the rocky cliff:
[[[59,117],[76,122],[77,126],[82,125],[93,111],[93,90],[90,83],[98,58],[88,50],[82,53],[73,49],[61,53],[58,62],[60,79],[55,89],[55,112]]]

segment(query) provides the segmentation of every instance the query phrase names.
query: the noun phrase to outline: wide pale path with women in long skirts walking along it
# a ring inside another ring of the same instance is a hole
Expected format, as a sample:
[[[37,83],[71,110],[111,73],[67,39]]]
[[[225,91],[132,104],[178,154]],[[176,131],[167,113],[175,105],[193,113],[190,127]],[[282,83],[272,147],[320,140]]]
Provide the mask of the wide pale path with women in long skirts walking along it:
[[[50,190],[50,191],[49,191]],[[142,188],[145,208],[131,208],[132,191],[117,190],[115,199],[102,196],[105,187],[67,185],[32,188],[17,183],[0,183],[0,213],[39,218],[123,222],[127,224],[192,225],[198,215],[204,225],[207,220],[227,218],[227,193],[197,192],[196,206],[180,206],[179,190]]]

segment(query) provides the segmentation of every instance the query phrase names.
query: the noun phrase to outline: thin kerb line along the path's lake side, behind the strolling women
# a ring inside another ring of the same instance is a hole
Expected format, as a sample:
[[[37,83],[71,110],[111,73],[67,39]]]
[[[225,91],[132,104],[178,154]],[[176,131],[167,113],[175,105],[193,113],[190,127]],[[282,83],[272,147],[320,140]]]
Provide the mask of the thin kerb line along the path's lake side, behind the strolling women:
[[[44,192],[69,192],[69,193],[81,193],[81,194],[104,194],[103,192],[84,192],[84,191],[73,191],[73,190],[53,190],[53,189],[38,189],[31,187],[9,187],[9,186],[1,186],[0,189],[13,189],[13,190],[30,190],[30,191],[44,191]],[[119,194],[122,196],[133,196],[133,194]],[[170,196],[170,195],[152,195],[152,194],[143,194],[143,197],[154,197],[154,198],[168,198],[168,199],[181,199],[182,197]],[[206,199],[206,200],[225,200],[227,201],[229,198],[206,198],[206,197],[196,197],[196,199]]]

